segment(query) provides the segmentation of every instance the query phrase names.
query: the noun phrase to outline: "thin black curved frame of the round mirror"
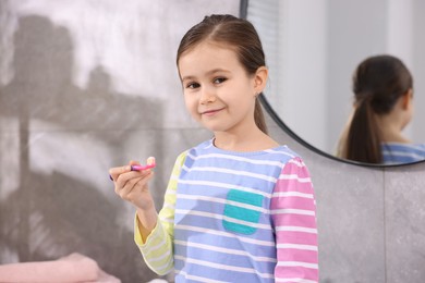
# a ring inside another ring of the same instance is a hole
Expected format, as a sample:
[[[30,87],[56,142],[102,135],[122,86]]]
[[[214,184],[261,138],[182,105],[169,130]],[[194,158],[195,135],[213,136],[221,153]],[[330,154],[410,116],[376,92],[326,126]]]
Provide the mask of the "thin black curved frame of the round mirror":
[[[241,0],[240,1],[240,9],[239,9],[239,16],[241,19],[247,20],[247,9],[248,9],[248,0]],[[420,160],[415,162],[410,162],[410,163],[399,163],[399,164],[374,164],[374,163],[365,163],[365,162],[357,162],[349,159],[342,159],[342,158],[337,158],[332,155],[329,155],[317,147],[312,146],[307,142],[305,142],[303,138],[301,138],[299,135],[296,135],[281,119],[280,116],[276,113],[276,111],[272,109],[271,104],[268,102],[267,98],[265,97],[264,94],[260,94],[258,96],[259,101],[262,102],[262,106],[264,110],[271,116],[271,119],[275,121],[275,123],[283,131],[286,132],[289,136],[291,136],[293,139],[295,139],[298,143],[303,145],[304,147],[311,149],[312,151],[324,156],[326,158],[332,159],[335,161],[348,163],[348,164],[353,164],[357,167],[367,167],[367,168],[398,168],[398,167],[406,167],[406,165],[413,165],[417,163],[425,163],[425,160]]]

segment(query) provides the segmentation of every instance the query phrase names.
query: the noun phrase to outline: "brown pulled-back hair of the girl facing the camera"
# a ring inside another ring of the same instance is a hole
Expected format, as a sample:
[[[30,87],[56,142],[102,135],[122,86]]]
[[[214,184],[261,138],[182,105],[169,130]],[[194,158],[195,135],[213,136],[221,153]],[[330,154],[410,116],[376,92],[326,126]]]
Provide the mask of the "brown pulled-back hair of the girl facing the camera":
[[[227,44],[235,49],[238,59],[245,71],[253,75],[266,65],[262,41],[255,27],[246,20],[233,15],[209,15],[193,26],[183,36],[177,53],[177,63],[181,56],[198,44],[211,40]],[[255,101],[254,120],[259,130],[267,134],[267,126],[258,98]]]

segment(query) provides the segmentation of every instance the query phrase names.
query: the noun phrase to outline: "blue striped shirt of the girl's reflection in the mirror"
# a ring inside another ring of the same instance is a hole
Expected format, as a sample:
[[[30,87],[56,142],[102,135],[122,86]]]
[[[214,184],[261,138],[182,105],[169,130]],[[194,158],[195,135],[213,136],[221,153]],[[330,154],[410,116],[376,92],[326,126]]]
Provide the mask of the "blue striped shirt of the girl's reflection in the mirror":
[[[402,164],[425,160],[425,144],[382,144],[382,162]]]

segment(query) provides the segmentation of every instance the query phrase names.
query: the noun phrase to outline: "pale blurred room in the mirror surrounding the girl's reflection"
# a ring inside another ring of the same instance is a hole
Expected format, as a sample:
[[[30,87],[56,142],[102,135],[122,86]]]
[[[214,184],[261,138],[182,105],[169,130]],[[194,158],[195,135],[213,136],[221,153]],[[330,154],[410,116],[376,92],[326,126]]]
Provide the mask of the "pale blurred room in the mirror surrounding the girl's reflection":
[[[246,17],[262,37],[270,73],[265,102],[290,134],[336,158],[353,109],[354,70],[371,56],[391,54],[414,77],[415,111],[403,135],[424,143],[423,12],[422,0],[247,1]]]

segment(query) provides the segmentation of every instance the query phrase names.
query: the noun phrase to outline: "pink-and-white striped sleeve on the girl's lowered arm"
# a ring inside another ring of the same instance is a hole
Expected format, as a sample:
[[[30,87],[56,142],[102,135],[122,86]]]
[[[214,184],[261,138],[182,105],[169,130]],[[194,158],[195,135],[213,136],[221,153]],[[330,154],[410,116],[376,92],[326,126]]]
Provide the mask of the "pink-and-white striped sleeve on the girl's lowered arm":
[[[304,162],[291,159],[282,169],[271,197],[276,229],[276,282],[318,282],[316,204]]]

